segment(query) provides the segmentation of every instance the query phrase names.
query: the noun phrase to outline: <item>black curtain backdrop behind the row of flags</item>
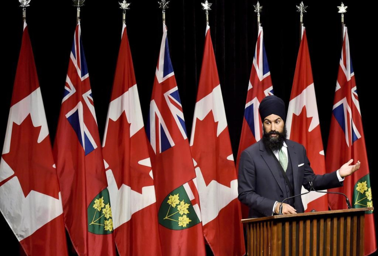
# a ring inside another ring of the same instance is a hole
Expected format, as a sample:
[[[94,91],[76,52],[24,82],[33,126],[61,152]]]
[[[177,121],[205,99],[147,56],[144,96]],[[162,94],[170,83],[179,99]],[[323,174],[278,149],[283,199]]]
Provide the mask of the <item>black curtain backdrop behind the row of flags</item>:
[[[228,128],[236,159],[242,128],[254,49],[257,39],[255,1],[213,0],[209,25],[214,45],[219,79],[223,91]],[[173,69],[191,134],[197,86],[200,76],[205,36],[205,13],[200,0],[172,0],[166,12],[168,38]],[[261,22],[275,95],[289,103],[296,58],[300,44],[299,1],[262,1]],[[334,92],[342,45],[339,1],[307,0],[304,14],[314,76],[317,104],[326,150]],[[368,152],[373,202],[378,199],[375,186],[377,57],[373,24],[376,9],[360,1],[344,2],[348,6],[350,54],[355,70],[364,133]],[[22,9],[18,1],[4,1],[0,16],[2,34],[2,88],[0,94],[0,145],[3,145],[13,82],[22,36]],[[127,31],[145,123],[149,110],[156,63],[162,36],[161,10],[157,1],[134,0],[127,12]],[[114,70],[121,40],[122,10],[117,1],[90,1],[81,8],[82,42],[85,50],[92,95],[96,106],[100,137],[103,137]],[[50,136],[54,141],[69,53],[76,25],[76,8],[72,1],[32,0],[27,9],[27,22],[37,67]],[[357,160],[357,159],[356,159]],[[362,165],[368,163],[362,163]],[[377,220],[375,214],[375,220]],[[376,222],[377,223],[377,222]],[[0,217],[6,245],[18,255],[18,242]]]

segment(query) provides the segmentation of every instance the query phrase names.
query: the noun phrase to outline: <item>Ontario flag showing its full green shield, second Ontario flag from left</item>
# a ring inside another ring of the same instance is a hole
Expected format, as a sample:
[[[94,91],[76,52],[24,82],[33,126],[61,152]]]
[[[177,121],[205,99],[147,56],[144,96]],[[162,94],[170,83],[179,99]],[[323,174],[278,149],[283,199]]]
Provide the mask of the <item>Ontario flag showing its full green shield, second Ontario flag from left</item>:
[[[163,23],[147,137],[163,255],[205,255],[196,174]]]

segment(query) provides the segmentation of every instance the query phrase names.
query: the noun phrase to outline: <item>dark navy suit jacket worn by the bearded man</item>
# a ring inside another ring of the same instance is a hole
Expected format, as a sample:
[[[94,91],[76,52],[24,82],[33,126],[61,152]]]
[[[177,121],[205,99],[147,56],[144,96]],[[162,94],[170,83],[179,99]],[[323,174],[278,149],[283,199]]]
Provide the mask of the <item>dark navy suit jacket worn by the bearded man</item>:
[[[310,167],[303,145],[292,140],[285,140],[293,168],[294,195],[301,194],[302,185],[310,189],[306,177],[313,179],[316,190],[342,186],[336,171],[324,175],[315,175]],[[239,162],[238,191],[239,200],[249,207],[249,218],[271,216],[274,203],[281,202],[285,195],[285,180],[280,178],[274,154],[265,148],[263,140],[243,151]],[[294,208],[303,212],[301,197],[296,197]]]

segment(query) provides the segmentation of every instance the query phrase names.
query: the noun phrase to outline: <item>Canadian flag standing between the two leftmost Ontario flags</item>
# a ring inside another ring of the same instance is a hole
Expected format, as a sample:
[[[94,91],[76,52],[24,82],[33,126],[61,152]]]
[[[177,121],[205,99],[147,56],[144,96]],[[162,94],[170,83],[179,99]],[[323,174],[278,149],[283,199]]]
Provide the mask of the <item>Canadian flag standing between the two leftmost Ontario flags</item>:
[[[161,255],[154,180],[125,24],[106,119],[103,155],[118,252]]]

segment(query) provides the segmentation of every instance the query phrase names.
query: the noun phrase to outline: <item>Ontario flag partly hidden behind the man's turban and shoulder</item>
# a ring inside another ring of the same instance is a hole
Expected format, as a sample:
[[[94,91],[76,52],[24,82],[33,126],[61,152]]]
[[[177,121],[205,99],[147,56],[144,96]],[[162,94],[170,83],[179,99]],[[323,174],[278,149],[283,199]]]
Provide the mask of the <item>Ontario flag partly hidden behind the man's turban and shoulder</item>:
[[[268,95],[273,95],[273,85],[265,52],[263,27],[259,26],[236,162],[237,173],[239,172],[239,161],[242,152],[259,141],[263,135],[263,123],[258,107],[260,102]],[[245,204],[241,206],[243,218],[248,218],[248,206]]]

